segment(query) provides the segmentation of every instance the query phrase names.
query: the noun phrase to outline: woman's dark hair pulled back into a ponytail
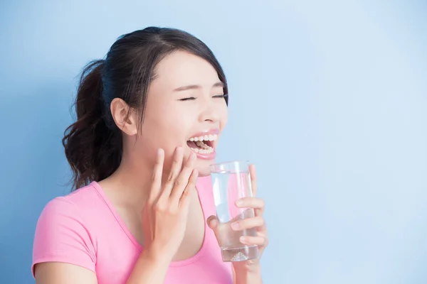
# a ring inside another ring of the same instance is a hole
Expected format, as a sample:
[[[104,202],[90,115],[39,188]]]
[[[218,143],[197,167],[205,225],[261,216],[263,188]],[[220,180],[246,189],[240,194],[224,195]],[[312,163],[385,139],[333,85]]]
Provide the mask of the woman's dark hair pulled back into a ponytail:
[[[122,133],[112,119],[112,99],[118,97],[138,109],[142,121],[154,67],[176,50],[185,50],[209,62],[224,83],[224,94],[228,94],[221,65],[194,35],[157,27],[122,35],[105,59],[90,62],[80,77],[75,99],[77,119],[63,137],[65,155],[73,171],[73,190],[105,179],[117,170],[122,160]]]

